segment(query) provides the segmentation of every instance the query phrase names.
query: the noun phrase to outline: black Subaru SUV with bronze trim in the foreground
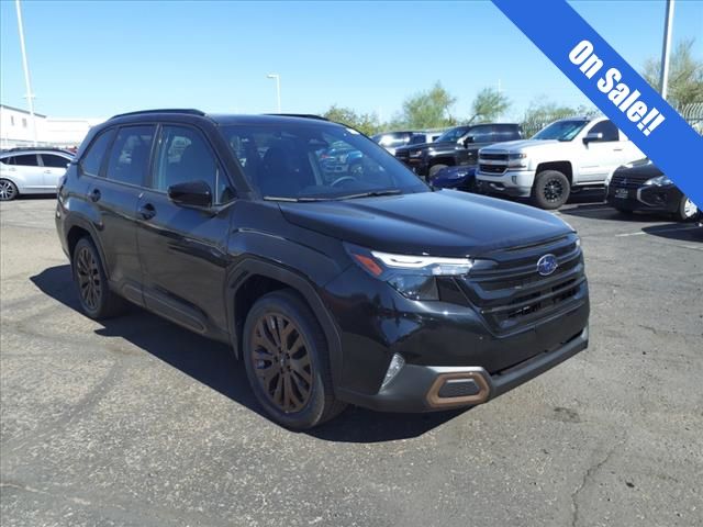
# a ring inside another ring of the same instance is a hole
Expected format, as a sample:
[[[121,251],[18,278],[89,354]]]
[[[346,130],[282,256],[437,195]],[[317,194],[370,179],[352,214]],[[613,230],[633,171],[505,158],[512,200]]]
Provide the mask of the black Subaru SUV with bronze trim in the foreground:
[[[358,150],[361,169],[326,172],[331,145]],[[88,316],[126,300],[228,343],[290,428],[347,403],[477,405],[588,345],[569,225],[433,190],[320,117],[114,116],[60,182],[56,226]]]

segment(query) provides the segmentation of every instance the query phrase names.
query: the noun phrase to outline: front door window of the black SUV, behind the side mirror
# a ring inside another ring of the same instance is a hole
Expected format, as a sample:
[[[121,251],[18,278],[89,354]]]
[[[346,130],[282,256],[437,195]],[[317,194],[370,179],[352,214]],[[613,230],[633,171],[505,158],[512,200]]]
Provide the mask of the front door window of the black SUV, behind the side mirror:
[[[164,126],[152,187],[166,192],[177,183],[204,181],[215,203],[230,201],[234,192],[200,132],[188,126]]]

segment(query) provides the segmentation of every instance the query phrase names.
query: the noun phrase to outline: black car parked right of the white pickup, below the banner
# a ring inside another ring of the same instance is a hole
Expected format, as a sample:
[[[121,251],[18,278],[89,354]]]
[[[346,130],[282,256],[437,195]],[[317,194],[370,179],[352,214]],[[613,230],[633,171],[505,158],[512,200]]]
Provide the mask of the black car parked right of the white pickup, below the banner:
[[[620,212],[671,214],[679,222],[692,222],[701,210],[649,159],[620,167],[609,179],[605,200]]]

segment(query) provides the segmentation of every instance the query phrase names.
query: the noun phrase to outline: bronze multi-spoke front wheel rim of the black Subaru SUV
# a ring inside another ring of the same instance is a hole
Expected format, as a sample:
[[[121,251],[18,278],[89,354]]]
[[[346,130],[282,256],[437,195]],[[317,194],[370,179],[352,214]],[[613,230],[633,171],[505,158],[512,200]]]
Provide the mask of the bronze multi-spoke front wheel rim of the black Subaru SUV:
[[[288,317],[263,315],[254,326],[250,360],[268,400],[288,413],[301,411],[312,394],[308,343]]]

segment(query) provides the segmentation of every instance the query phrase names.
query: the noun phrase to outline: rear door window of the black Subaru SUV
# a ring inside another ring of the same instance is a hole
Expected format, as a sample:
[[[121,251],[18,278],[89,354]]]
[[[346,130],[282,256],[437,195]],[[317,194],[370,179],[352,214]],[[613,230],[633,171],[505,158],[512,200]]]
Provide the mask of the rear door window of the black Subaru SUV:
[[[124,126],[118,132],[108,161],[108,179],[144,184],[156,126]]]

